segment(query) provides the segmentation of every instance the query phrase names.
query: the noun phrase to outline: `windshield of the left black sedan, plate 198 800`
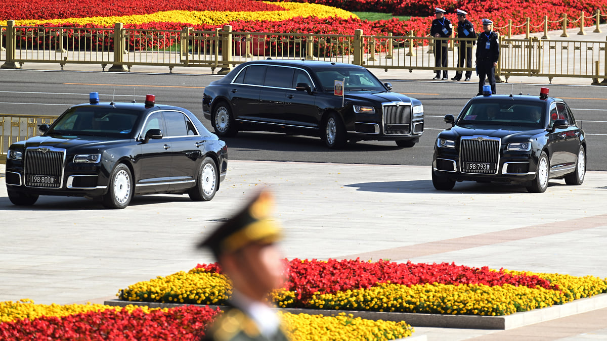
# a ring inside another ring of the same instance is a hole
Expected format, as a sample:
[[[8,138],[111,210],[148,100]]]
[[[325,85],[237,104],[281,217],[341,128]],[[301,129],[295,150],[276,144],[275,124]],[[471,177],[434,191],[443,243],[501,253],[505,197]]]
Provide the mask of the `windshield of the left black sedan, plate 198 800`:
[[[129,138],[140,113],[106,107],[75,107],[55,121],[46,135]]]

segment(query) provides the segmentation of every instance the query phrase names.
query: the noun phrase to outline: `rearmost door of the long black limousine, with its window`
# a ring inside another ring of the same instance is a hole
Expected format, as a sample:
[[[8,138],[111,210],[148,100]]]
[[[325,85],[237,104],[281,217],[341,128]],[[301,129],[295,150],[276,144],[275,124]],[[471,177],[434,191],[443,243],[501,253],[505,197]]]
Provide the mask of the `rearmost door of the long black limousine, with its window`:
[[[265,65],[247,66],[228,85],[232,115],[236,120],[259,120],[259,93],[266,69]]]

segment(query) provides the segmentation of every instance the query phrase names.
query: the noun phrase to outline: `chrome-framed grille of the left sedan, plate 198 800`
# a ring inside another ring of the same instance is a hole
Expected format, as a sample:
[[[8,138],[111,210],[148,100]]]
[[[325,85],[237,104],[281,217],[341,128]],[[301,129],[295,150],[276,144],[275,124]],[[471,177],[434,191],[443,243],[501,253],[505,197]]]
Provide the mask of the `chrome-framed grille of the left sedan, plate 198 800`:
[[[63,183],[65,149],[32,148],[25,150],[25,186],[60,188]],[[52,182],[33,182],[33,177],[53,177]]]

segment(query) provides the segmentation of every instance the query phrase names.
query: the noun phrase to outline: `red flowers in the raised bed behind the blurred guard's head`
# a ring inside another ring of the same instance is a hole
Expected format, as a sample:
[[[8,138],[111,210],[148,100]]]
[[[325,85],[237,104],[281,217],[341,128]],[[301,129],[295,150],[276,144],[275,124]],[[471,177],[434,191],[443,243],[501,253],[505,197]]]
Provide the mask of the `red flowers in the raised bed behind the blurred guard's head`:
[[[535,288],[558,290],[548,280],[537,275],[513,275],[500,271],[492,271],[486,266],[472,268],[455,265],[455,263],[395,263],[380,260],[369,263],[358,260],[334,260],[327,262],[300,260],[295,258],[287,262],[288,275],[285,289],[297,293],[297,299],[308,300],[317,292],[334,294],[348,289],[367,289],[376,283],[395,283],[401,285],[416,285],[424,283],[439,283],[446,285],[483,284],[501,286],[527,286]],[[219,266],[200,265],[208,272],[221,272]]]

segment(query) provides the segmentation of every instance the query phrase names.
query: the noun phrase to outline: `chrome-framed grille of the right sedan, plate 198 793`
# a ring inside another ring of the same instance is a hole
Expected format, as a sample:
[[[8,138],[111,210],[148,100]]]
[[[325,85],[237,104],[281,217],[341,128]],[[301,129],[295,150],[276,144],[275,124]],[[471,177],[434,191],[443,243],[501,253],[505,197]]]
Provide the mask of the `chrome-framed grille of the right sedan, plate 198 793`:
[[[459,143],[459,169],[468,174],[497,174],[500,144],[499,138],[463,137]]]

